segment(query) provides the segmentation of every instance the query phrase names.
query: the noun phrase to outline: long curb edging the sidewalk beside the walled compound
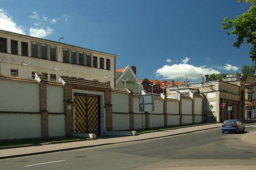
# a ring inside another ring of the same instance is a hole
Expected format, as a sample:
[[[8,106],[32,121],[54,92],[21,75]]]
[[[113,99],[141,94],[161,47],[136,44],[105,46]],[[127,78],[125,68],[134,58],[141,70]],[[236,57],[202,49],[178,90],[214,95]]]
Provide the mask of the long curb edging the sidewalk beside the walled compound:
[[[3,156],[3,157],[0,157],[0,159],[17,158],[17,157],[24,157],[24,156],[31,156],[31,155],[40,155],[40,154],[48,154],[48,153],[54,153],[54,152],[62,152],[62,151],[72,151],[72,150],[78,150],[78,149],[84,149],[84,148],[100,147],[100,146],[103,146],[103,145],[110,145],[110,144],[127,143],[127,142],[142,141],[142,140],[148,140],[148,139],[157,139],[157,138],[162,138],[162,137],[182,135],[182,134],[193,133],[193,132],[209,130],[209,129],[215,129],[215,128],[220,128],[220,127],[206,128],[206,129],[200,129],[200,130],[194,130],[194,131],[189,131],[189,132],[182,132],[182,133],[171,134],[171,135],[164,135],[164,136],[158,136],[158,137],[150,137],[150,138],[144,138],[144,139],[136,139],[136,140],[129,140],[129,141],[121,141],[121,142],[95,144],[95,145],[90,145],[90,146],[58,149],[58,150],[44,151],[44,152],[35,152],[35,153],[29,153],[29,154],[19,154],[19,155]]]

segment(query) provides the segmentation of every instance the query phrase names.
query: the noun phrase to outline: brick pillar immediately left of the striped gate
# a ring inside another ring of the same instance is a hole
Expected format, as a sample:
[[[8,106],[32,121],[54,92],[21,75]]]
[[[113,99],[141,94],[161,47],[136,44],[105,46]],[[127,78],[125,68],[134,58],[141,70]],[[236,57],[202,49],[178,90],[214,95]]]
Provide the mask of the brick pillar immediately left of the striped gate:
[[[72,96],[72,85],[66,83],[64,87],[66,137],[71,136],[71,133],[74,132],[74,102]]]

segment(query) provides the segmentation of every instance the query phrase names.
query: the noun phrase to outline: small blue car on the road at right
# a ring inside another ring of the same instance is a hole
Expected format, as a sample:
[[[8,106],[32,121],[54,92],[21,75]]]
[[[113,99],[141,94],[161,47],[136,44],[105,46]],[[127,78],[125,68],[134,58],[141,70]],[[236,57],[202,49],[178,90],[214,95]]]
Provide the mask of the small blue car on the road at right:
[[[225,120],[222,124],[222,128],[221,128],[221,132],[225,133],[225,132],[244,132],[245,131],[245,126],[244,124],[238,120],[238,119],[234,119],[234,120]]]

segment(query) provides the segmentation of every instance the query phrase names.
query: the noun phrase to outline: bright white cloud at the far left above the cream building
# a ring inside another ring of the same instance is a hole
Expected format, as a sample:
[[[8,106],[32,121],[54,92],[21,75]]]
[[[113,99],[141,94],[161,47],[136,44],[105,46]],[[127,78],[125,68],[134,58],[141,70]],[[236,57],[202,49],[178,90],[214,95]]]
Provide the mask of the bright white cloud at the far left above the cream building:
[[[25,34],[25,28],[20,25],[17,26],[16,22],[12,20],[12,17],[8,17],[8,14],[0,8],[0,30],[10,31],[18,34]]]

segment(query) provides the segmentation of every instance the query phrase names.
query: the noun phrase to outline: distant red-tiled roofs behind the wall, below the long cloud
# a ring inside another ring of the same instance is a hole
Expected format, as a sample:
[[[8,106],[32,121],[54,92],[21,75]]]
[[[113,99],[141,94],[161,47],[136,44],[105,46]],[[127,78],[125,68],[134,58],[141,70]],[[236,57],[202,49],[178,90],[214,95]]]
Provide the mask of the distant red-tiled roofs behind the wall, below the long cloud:
[[[186,85],[185,81],[181,82],[175,82],[175,81],[161,81],[161,80],[148,80],[148,79],[143,79],[140,80],[143,81],[142,85],[144,87],[144,90],[147,92],[152,92],[153,88],[153,93],[166,93],[166,88],[168,87],[177,87],[178,86],[184,86]]]

